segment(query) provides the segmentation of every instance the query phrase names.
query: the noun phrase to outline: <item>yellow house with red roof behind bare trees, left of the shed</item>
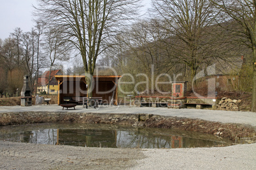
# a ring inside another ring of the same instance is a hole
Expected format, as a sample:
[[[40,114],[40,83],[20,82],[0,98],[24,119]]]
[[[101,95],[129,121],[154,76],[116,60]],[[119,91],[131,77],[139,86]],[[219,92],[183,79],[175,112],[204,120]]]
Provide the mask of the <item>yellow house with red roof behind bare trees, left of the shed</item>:
[[[58,94],[58,82],[55,79],[55,75],[63,75],[63,73],[60,69],[52,70],[51,75],[50,75],[50,81],[49,81],[49,74],[50,74],[50,70],[44,72],[43,75],[38,78],[38,86],[37,86],[37,91],[36,91],[37,94],[43,93],[44,91],[45,91],[45,93],[47,93],[48,84],[50,84],[49,94],[50,95]]]

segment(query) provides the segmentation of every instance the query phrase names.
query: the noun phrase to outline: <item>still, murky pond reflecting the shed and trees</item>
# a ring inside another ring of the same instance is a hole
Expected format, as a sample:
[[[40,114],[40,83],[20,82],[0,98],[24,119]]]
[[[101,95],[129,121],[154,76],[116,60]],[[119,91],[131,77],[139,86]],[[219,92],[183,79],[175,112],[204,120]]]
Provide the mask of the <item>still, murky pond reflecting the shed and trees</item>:
[[[108,148],[194,148],[232,144],[231,140],[212,134],[109,124],[43,123],[3,126],[0,129],[0,140]]]

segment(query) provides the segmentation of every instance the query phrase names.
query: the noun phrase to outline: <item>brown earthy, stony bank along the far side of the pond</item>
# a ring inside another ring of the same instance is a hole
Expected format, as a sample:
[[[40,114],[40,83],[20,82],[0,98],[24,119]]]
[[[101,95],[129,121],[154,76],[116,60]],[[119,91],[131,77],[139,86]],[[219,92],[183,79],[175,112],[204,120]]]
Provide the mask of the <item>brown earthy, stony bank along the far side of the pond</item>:
[[[41,122],[78,122],[125,124],[150,128],[174,128],[186,131],[215,134],[236,143],[253,143],[256,131],[252,126],[203,121],[184,117],[152,114],[97,114],[65,112],[10,112],[0,114],[0,126]]]

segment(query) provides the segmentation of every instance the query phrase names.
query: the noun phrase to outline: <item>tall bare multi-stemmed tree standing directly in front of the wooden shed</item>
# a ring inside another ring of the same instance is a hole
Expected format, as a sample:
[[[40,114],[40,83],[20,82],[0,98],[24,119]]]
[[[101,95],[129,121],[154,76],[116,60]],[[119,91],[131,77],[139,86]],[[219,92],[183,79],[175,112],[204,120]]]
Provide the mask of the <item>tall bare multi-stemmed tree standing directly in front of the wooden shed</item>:
[[[63,27],[63,36],[80,51],[92,96],[92,75],[106,41],[136,13],[139,0],[39,0],[37,15],[48,25]]]

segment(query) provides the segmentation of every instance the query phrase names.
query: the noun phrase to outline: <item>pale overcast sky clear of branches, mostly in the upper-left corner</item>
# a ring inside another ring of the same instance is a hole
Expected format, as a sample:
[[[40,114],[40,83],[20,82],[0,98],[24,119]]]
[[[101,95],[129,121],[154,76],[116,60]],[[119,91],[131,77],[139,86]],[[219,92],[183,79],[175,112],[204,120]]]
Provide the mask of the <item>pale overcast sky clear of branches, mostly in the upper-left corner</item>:
[[[143,0],[146,7],[150,6],[151,0]],[[32,4],[36,6],[36,0],[0,0],[0,39],[4,40],[16,27],[23,32],[31,31]]]

